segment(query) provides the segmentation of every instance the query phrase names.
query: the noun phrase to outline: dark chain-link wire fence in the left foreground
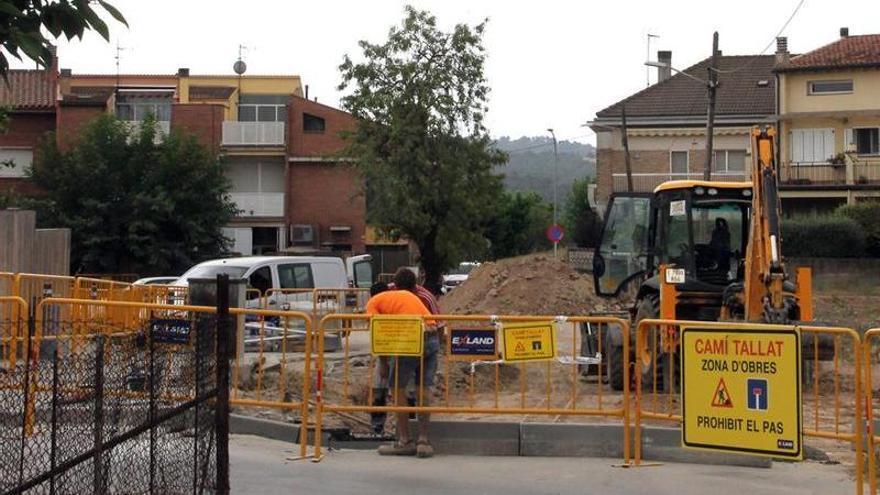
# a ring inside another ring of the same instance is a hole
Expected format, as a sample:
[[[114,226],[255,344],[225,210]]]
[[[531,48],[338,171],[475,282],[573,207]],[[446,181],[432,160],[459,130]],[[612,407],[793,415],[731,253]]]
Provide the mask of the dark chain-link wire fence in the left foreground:
[[[228,306],[53,298],[0,320],[0,493],[228,493],[230,328]]]

